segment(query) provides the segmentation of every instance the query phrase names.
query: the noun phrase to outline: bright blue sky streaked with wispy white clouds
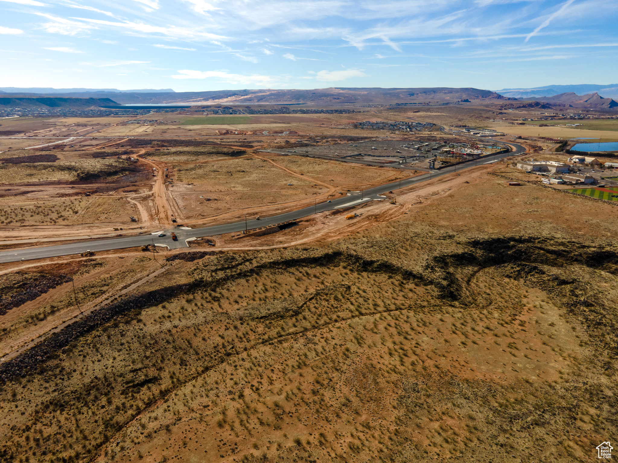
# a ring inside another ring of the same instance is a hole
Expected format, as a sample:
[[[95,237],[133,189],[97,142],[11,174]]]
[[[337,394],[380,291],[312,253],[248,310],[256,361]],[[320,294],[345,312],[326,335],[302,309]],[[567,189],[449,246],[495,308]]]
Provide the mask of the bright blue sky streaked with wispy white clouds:
[[[0,0],[0,86],[618,81],[618,0]]]

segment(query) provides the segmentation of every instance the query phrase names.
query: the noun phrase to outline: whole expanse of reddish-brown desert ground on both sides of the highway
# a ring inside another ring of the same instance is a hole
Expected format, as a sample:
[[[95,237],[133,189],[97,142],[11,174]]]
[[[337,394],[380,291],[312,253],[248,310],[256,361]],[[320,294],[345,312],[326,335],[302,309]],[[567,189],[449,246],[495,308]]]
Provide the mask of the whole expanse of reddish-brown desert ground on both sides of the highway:
[[[261,150],[452,143],[468,139],[443,130],[489,127],[496,112],[386,107],[210,125],[184,121],[213,115],[170,114],[142,132],[99,121],[93,144],[11,144],[0,153],[0,245],[312,206],[416,174]],[[337,128],[350,120],[439,130]],[[263,133],[279,125],[297,133]],[[537,134],[513,133],[520,159],[566,161],[553,135]],[[48,157],[19,162],[28,156]],[[0,458],[592,461],[617,431],[617,206],[543,185],[514,161],[274,233],[0,264]]]

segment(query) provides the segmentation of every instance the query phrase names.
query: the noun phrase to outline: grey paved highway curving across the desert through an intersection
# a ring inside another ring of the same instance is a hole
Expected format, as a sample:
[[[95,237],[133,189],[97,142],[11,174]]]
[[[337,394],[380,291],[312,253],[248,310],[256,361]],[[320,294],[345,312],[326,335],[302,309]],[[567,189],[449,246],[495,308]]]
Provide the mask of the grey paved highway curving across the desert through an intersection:
[[[497,140],[493,141],[502,143]],[[175,228],[174,230],[164,230],[166,236],[163,238],[159,238],[157,235],[148,234],[127,236],[122,238],[108,238],[105,240],[79,241],[77,243],[44,246],[40,248],[15,249],[14,251],[0,252],[0,263],[29,261],[31,259],[43,259],[45,257],[69,256],[70,254],[79,254],[80,252],[87,251],[88,249],[96,252],[109,251],[111,249],[132,248],[133,246],[142,246],[144,244],[162,244],[164,246],[169,246],[170,249],[186,248],[188,247],[188,244],[185,240],[188,238],[220,235],[222,233],[234,233],[235,231],[242,231],[245,229],[266,227],[268,225],[276,225],[277,223],[301,219],[302,217],[307,217],[308,215],[316,214],[317,212],[332,211],[333,209],[340,209],[342,207],[356,206],[357,204],[362,204],[362,202],[366,201],[385,199],[384,196],[379,196],[385,191],[397,190],[397,188],[403,188],[404,186],[415,185],[435,177],[441,177],[442,175],[469,169],[470,167],[475,167],[476,165],[490,164],[491,162],[499,161],[504,157],[515,156],[525,151],[525,148],[519,144],[510,144],[515,146],[515,151],[497,154],[496,156],[488,156],[483,159],[468,161],[451,167],[445,167],[439,171],[434,170],[423,175],[418,175],[418,177],[408,178],[407,180],[402,181],[394,181],[392,183],[376,186],[362,192],[352,192],[343,198],[332,199],[331,202],[320,202],[315,206],[274,215],[273,217],[261,217],[260,220],[256,220],[255,217],[252,217],[247,218],[246,223],[245,220],[242,220],[241,222],[213,225],[212,227],[205,228],[193,228],[192,230],[182,230],[180,228]],[[177,241],[172,240],[171,231],[176,233],[178,238]]]

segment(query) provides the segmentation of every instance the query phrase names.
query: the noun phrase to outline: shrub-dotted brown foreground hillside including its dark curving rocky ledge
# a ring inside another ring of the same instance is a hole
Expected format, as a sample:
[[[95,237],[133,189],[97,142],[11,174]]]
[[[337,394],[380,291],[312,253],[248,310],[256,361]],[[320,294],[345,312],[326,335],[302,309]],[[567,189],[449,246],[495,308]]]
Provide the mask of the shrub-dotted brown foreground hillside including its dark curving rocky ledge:
[[[540,460],[555,455],[548,432],[569,442],[558,461],[583,458],[598,423],[613,428],[607,244],[394,220],[323,247],[176,259],[164,281],[2,365],[33,391],[7,383],[4,420],[24,441],[27,422],[54,435],[44,417],[80,411],[85,453],[36,450],[67,459],[433,461],[434,448],[472,458],[473,442],[475,459],[528,447]]]

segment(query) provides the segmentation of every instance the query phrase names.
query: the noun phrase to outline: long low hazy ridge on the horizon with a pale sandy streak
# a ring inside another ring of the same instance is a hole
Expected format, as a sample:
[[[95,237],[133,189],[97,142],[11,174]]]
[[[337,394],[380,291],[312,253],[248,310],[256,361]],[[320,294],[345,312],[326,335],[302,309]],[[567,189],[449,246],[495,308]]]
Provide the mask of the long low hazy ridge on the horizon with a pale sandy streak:
[[[30,89],[32,90],[32,89]],[[77,89],[71,89],[77,90]],[[9,96],[6,94],[4,96]],[[318,88],[314,90],[218,90],[195,92],[81,91],[67,93],[22,93],[11,96],[57,96],[68,98],[111,98],[121,104],[308,104],[345,106],[346,104],[405,104],[423,102],[496,101],[509,98],[478,88]]]

